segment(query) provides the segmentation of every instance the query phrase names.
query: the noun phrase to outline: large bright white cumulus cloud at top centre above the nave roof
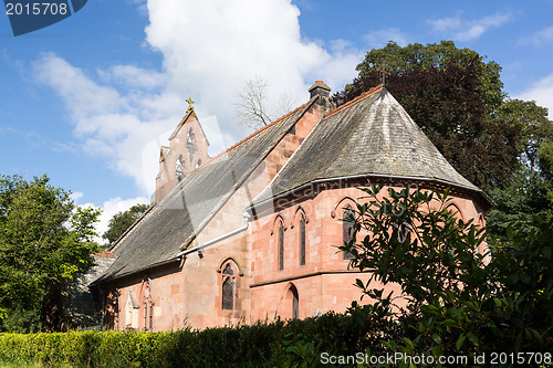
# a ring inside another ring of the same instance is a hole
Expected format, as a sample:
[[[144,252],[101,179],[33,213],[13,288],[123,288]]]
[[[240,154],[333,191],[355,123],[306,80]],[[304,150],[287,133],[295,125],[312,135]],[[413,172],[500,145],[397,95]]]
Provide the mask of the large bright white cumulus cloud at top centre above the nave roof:
[[[361,61],[302,40],[300,11],[289,0],[149,0],[148,11],[147,42],[164,55],[168,87],[202,102],[223,130],[234,124],[231,99],[244,81],[260,76],[270,98],[305,101],[315,80],[342,87]]]

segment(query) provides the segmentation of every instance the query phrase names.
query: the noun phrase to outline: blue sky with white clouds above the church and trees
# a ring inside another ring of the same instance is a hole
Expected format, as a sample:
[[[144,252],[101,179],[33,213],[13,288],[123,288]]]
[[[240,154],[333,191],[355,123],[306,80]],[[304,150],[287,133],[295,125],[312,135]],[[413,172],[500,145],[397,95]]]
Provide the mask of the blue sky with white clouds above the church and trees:
[[[149,203],[160,145],[195,101],[215,156],[252,130],[233,113],[247,81],[270,107],[333,92],[367,51],[455,41],[502,66],[511,98],[553,113],[553,0],[88,0],[13,36],[0,14],[0,174],[48,174],[108,219]],[[550,118],[553,114],[550,113]]]

